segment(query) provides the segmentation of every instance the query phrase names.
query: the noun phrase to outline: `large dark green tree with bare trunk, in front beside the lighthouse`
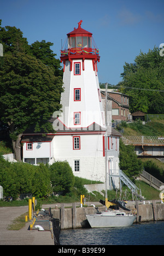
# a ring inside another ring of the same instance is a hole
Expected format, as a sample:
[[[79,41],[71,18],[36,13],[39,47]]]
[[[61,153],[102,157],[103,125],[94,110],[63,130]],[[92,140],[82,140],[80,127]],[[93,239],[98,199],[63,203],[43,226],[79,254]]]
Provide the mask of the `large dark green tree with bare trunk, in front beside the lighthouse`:
[[[0,65],[0,117],[8,124],[17,161],[21,161],[22,133],[52,131],[49,119],[61,108],[62,79],[36,57],[6,54]]]

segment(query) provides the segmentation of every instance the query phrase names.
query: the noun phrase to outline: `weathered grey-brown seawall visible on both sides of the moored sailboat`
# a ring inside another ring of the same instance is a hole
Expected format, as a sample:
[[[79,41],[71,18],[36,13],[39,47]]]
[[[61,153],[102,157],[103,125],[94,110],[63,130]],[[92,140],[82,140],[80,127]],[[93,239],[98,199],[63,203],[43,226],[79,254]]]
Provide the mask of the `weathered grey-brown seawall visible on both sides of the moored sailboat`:
[[[134,206],[128,205],[127,208],[133,210],[136,208],[137,222],[150,222],[156,220],[164,220],[164,204],[152,203],[143,204],[143,202],[136,201]],[[105,210],[105,207],[98,207],[99,211]],[[51,209],[54,218],[61,220],[61,229],[75,229],[75,228],[89,228],[85,214],[95,213],[94,207],[77,207],[76,203],[72,204],[72,208],[66,208],[64,203],[61,203],[61,208]]]

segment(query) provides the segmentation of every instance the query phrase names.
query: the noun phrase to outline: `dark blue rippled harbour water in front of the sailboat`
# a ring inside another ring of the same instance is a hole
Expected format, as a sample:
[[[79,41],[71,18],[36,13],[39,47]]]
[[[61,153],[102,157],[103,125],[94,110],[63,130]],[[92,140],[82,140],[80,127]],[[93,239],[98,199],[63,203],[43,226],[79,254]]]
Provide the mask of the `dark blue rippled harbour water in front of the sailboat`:
[[[164,222],[125,228],[61,230],[61,245],[164,245]]]

